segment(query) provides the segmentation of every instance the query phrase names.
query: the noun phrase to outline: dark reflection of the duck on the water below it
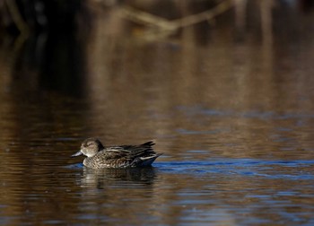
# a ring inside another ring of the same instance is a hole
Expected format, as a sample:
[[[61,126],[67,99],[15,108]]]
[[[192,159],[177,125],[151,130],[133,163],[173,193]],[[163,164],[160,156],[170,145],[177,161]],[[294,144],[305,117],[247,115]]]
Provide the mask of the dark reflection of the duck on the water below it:
[[[84,167],[81,186],[99,189],[137,187],[151,185],[155,178],[157,178],[157,173],[153,167],[97,170]]]

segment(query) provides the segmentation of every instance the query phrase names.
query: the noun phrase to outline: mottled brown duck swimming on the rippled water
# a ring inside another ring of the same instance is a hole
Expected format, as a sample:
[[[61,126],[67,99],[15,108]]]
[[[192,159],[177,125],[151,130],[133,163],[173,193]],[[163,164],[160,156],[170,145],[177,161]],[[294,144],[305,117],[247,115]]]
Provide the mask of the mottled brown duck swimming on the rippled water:
[[[72,157],[85,155],[83,165],[92,169],[118,169],[151,166],[162,153],[153,151],[153,141],[139,145],[105,147],[98,138],[87,138]]]

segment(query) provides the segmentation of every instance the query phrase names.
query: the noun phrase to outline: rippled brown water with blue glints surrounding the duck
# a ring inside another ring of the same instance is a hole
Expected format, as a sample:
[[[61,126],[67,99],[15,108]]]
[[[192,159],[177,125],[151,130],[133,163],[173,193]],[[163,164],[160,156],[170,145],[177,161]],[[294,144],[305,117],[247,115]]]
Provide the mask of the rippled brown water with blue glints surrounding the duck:
[[[1,53],[2,224],[314,224],[313,16],[240,42],[218,25],[146,41],[103,19],[75,69]],[[164,154],[89,170],[70,155],[90,136]]]

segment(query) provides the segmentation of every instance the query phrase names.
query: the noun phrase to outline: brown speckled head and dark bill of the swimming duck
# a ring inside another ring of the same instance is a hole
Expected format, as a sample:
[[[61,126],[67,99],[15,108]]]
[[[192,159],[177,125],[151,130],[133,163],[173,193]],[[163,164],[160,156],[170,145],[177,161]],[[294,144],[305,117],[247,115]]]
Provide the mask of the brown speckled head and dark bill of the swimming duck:
[[[92,157],[95,154],[97,154],[97,152],[100,152],[102,149],[104,149],[104,146],[102,145],[99,139],[88,138],[83,141],[81,145],[81,150],[74,153],[72,157],[79,156],[81,154],[87,157]]]

